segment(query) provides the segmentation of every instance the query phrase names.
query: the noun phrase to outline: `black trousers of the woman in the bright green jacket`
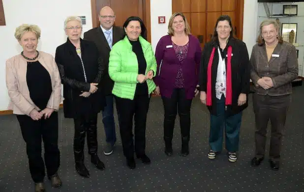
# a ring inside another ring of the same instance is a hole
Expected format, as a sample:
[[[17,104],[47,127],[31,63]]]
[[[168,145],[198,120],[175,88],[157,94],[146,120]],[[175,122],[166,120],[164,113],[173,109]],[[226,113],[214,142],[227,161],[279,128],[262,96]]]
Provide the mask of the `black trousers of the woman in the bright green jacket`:
[[[137,156],[142,156],[145,154],[146,149],[146,121],[150,95],[135,95],[133,100],[120,97],[115,97],[115,99],[116,107],[120,114],[123,155],[127,159],[134,158],[132,133],[134,117],[135,153]]]

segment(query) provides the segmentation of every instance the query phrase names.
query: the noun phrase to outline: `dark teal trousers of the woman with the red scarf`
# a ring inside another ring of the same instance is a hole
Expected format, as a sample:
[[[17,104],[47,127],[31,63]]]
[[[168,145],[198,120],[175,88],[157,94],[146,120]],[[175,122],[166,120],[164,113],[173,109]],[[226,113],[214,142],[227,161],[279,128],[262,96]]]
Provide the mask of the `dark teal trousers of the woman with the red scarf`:
[[[213,151],[222,151],[223,132],[225,132],[225,146],[229,152],[239,150],[240,127],[242,123],[242,112],[227,116],[225,113],[225,97],[217,99],[217,115],[210,116],[209,144]]]

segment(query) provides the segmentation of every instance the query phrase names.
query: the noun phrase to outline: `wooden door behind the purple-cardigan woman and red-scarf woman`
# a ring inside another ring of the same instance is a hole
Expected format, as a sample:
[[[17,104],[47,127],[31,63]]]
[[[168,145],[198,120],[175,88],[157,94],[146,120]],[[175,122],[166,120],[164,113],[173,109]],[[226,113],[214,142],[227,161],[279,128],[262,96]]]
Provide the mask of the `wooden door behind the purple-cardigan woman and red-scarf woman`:
[[[210,41],[217,18],[220,15],[231,17],[235,37],[243,38],[244,0],[172,0],[172,12],[182,12],[197,36],[201,46]]]

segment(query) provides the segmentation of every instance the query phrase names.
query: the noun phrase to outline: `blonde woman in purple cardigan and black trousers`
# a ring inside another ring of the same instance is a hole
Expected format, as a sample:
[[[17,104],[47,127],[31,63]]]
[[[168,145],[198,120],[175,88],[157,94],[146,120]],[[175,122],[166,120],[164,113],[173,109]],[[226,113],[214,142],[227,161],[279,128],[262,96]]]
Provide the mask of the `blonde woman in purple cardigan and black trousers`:
[[[172,137],[177,112],[180,116],[182,156],[189,154],[190,108],[198,91],[198,72],[201,47],[190,34],[190,27],[182,13],[174,13],[168,26],[169,35],[156,46],[157,76],[155,94],[162,97],[164,115],[165,154],[172,155]]]

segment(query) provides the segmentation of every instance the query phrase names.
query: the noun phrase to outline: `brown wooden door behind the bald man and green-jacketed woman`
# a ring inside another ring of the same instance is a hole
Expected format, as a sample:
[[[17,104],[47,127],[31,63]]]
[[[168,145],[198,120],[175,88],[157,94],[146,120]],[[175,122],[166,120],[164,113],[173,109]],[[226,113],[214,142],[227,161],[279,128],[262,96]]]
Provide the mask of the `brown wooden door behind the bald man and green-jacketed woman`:
[[[147,27],[147,39],[151,42],[150,0],[91,0],[92,26],[99,26],[98,14],[102,7],[109,6],[115,12],[115,26],[122,26],[130,16],[140,17]]]

